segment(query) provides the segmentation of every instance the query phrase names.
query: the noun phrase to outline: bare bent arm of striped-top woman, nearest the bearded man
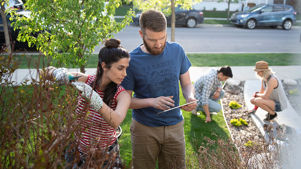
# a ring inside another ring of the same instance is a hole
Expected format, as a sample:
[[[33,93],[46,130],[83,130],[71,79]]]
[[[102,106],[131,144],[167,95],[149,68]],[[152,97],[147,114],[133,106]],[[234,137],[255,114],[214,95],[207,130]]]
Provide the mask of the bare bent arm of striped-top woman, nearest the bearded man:
[[[111,127],[116,129],[126,117],[126,113],[131,103],[131,96],[125,90],[120,92],[116,98],[116,109],[112,110],[105,103],[98,113]]]

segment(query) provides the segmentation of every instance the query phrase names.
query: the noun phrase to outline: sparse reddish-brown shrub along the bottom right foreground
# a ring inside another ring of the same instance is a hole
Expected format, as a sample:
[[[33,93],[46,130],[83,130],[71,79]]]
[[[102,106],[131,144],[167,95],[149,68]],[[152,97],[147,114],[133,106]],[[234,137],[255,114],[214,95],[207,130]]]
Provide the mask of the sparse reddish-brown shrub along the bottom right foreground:
[[[213,135],[217,136],[212,132]],[[199,140],[194,138],[191,144],[195,152],[187,153],[186,168],[188,169],[262,169],[262,168],[299,168],[300,160],[300,135],[294,136],[273,136],[269,133],[269,141],[262,136],[254,141],[248,141],[245,147],[237,148],[240,139],[226,139],[217,136],[216,140],[204,137],[199,145]],[[287,138],[285,144],[279,144],[274,139]]]

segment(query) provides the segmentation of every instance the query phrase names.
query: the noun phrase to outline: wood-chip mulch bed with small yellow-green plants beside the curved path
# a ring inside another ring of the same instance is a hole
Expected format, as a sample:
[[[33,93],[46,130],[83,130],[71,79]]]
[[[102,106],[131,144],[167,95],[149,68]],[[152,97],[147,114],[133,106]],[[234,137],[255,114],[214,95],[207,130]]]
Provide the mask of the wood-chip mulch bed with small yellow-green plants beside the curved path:
[[[299,93],[301,93],[300,83],[296,86],[285,85],[284,90],[287,95],[287,99],[289,100],[292,107],[295,111],[301,116],[301,102],[300,102],[300,94],[291,95],[289,94],[290,90],[298,89]],[[225,85],[225,97],[222,99],[222,106],[225,113],[225,118],[227,120],[229,129],[231,134],[234,136],[236,146],[241,150],[240,153],[248,153],[249,149],[245,149],[245,143],[248,141],[255,141],[258,146],[262,146],[262,137],[257,129],[256,125],[253,123],[253,120],[249,117],[248,109],[244,100],[244,81],[240,83],[239,86],[229,86]],[[228,106],[230,101],[235,101],[241,105],[238,109],[232,109]],[[249,102],[249,100],[247,100]],[[248,125],[241,125],[240,127],[235,127],[230,123],[231,119],[239,119],[242,118],[246,120]]]

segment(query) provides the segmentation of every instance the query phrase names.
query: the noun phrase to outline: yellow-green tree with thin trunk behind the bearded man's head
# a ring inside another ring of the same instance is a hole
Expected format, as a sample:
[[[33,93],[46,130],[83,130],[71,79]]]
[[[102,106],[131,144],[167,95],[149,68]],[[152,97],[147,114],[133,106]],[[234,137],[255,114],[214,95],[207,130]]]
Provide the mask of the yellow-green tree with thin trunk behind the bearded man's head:
[[[146,11],[150,8],[162,11],[166,16],[171,15],[171,41],[175,42],[175,7],[181,5],[181,8],[191,9],[194,4],[202,0],[129,0],[133,2],[134,8]]]

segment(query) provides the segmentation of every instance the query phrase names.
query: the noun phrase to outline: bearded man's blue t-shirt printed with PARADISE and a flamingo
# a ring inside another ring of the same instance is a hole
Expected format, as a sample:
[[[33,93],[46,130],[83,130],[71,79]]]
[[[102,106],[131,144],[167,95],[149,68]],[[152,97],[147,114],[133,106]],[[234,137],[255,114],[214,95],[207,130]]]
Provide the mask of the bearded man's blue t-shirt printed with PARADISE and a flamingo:
[[[175,107],[179,106],[179,76],[191,66],[182,46],[166,42],[160,55],[145,53],[138,46],[130,52],[130,56],[127,76],[121,86],[133,90],[133,97],[139,99],[173,96]],[[150,127],[174,125],[184,119],[180,108],[157,114],[161,111],[154,107],[133,109],[132,118]]]

